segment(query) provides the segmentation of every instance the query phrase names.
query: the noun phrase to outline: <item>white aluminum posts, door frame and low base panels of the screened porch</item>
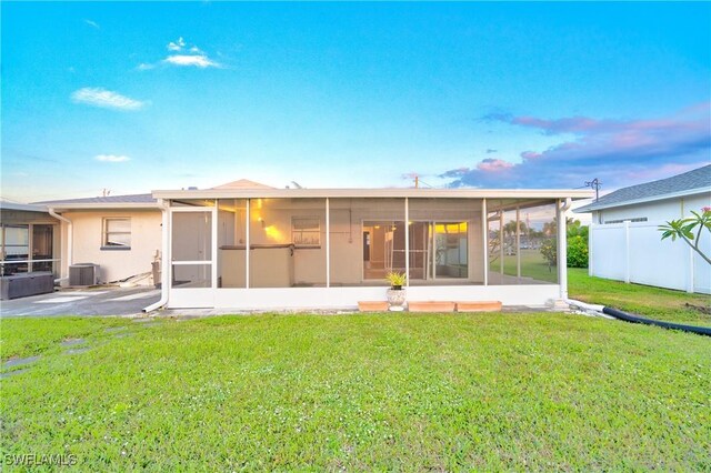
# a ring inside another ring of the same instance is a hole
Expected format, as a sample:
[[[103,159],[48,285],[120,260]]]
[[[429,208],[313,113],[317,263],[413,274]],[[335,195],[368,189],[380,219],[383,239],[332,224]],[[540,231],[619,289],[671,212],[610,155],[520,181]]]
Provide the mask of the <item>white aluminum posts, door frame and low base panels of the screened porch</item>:
[[[246,205],[246,286],[244,288],[218,288],[218,217],[219,217],[219,199],[214,199],[212,207],[172,207],[167,208],[168,212],[168,238],[164,240],[167,248],[163,249],[168,264],[166,264],[167,276],[164,279],[164,288],[168,291],[169,308],[222,308],[239,310],[273,310],[273,309],[354,309],[358,300],[380,300],[384,299],[382,293],[383,285],[361,285],[361,286],[337,286],[331,288],[331,244],[330,244],[330,199],[326,198],[326,288],[250,288],[250,230],[251,230],[251,198],[244,199]],[[405,225],[405,256],[409,256],[410,250],[410,212],[409,198],[404,197],[404,225]],[[558,200],[559,213],[560,200]],[[173,261],[172,259],[172,228],[173,214],[178,212],[209,212],[211,214],[211,248],[212,254],[209,260],[200,261]],[[517,208],[517,221],[520,220],[519,209]],[[361,219],[362,238],[363,223]],[[418,220],[420,221],[420,220]],[[449,220],[448,220],[449,221]],[[468,240],[471,220],[468,222]],[[560,282],[558,284],[520,284],[520,285],[489,285],[489,225],[488,225],[488,202],[485,198],[481,199],[481,221],[482,221],[482,245],[483,245],[483,285],[417,285],[409,286],[408,299],[411,301],[428,300],[452,300],[468,301],[495,299],[502,303],[524,304],[524,305],[543,305],[551,299],[557,299],[563,293]],[[427,220],[434,222],[434,220]],[[445,221],[438,223],[444,223]],[[457,222],[461,222],[457,220]],[[359,238],[359,240],[360,240]],[[520,240],[520,229],[517,229],[517,240]],[[468,242],[469,244],[469,242]],[[563,243],[564,244],[564,243]],[[362,242],[361,242],[362,245]],[[520,243],[519,243],[520,246]],[[563,253],[559,240],[559,254]],[[468,254],[471,252],[468,248]],[[520,259],[520,255],[519,255]],[[172,288],[173,264],[210,264],[210,273],[212,281],[209,288]],[[520,262],[518,263],[520,272]],[[471,269],[469,270],[471,271]],[[408,285],[410,281],[410,261],[405,258],[405,272],[408,275]],[[435,272],[435,271],[433,271]],[[564,272],[564,270],[563,270]],[[361,258],[361,283],[365,280],[364,268],[362,268]],[[453,281],[457,279],[453,279]],[[237,302],[239,301],[239,302]],[[239,306],[236,306],[239,304]]]

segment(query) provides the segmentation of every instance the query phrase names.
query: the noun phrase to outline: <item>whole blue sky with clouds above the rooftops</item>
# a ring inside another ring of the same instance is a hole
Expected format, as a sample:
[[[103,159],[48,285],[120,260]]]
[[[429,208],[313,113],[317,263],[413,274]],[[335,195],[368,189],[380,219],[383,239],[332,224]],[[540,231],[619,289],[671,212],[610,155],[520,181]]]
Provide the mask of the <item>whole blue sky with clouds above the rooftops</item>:
[[[711,161],[711,3],[2,2],[2,198],[607,190]]]

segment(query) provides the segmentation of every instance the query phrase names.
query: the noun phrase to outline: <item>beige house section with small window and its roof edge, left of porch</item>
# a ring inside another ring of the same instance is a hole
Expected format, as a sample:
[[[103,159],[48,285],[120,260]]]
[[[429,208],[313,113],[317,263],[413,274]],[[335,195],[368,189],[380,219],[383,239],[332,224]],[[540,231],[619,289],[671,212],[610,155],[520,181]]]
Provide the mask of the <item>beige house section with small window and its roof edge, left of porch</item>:
[[[56,272],[63,284],[72,264],[99,264],[99,282],[108,283],[150,275],[151,264],[160,260],[161,210],[150,194],[56,200],[38,205],[57,218],[61,262]],[[141,282],[153,281],[144,278]]]

